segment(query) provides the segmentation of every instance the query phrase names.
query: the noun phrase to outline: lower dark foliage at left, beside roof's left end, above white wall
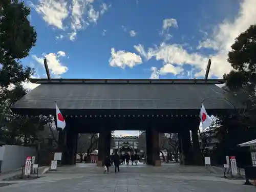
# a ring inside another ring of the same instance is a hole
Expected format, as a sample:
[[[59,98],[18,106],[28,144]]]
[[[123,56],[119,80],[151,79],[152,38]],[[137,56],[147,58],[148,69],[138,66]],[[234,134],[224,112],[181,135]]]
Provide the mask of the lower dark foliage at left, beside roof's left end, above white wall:
[[[20,85],[1,93],[3,97],[0,99],[0,140],[6,144],[33,143],[37,138],[36,132],[44,130],[44,125],[48,122],[40,117],[28,117],[11,112],[10,106],[26,93],[27,91]]]

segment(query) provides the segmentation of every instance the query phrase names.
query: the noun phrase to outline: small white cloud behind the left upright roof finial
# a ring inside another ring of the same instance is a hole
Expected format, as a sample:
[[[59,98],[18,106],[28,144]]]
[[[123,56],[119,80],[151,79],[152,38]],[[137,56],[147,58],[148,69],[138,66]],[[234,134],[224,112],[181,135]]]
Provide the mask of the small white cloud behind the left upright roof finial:
[[[68,71],[68,67],[64,66],[59,60],[59,57],[66,56],[65,52],[59,51],[57,53],[57,56],[54,53],[49,53],[44,56],[47,59],[48,68],[50,72],[56,77],[59,77],[59,75],[66,73]],[[44,57],[37,57],[35,55],[32,55],[32,57],[42,66],[44,66]]]

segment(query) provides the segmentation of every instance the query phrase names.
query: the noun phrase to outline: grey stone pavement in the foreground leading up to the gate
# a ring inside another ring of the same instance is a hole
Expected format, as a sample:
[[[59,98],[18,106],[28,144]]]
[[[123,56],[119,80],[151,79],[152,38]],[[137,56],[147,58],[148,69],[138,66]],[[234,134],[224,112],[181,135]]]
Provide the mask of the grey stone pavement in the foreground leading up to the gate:
[[[59,167],[46,177],[0,187],[0,191],[44,192],[251,192],[254,186],[244,186],[243,180],[228,180],[208,172],[205,167],[177,164],[152,167],[139,165],[120,166],[120,173],[103,174],[104,168],[92,164]],[[157,170],[157,172],[155,172]],[[169,171],[169,172],[168,172]],[[170,172],[173,171],[173,172]],[[202,172],[202,173],[200,173]]]

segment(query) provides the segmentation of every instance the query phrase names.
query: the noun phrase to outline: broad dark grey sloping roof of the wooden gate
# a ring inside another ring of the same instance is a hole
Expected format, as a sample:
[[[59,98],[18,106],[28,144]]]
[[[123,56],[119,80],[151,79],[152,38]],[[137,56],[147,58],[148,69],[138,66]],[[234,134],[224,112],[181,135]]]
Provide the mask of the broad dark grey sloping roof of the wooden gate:
[[[12,109],[233,109],[215,84],[40,84]],[[233,102],[233,101],[232,101]]]

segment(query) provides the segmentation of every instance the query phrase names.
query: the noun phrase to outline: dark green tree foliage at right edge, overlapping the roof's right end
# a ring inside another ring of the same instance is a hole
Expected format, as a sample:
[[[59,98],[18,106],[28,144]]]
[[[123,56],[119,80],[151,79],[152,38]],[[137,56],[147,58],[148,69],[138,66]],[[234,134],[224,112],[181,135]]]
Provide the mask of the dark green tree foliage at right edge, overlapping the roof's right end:
[[[228,61],[233,70],[224,75],[227,87],[243,102],[245,109],[237,116],[239,123],[255,124],[256,104],[256,25],[241,33],[231,46]]]

